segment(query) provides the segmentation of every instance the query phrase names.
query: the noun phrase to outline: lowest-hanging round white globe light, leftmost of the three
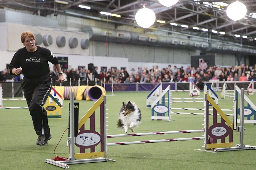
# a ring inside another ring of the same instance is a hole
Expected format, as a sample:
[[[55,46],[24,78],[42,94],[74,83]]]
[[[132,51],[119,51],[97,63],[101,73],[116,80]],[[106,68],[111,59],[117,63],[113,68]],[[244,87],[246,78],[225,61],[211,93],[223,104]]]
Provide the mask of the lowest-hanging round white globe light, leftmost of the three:
[[[137,24],[143,28],[148,28],[156,21],[156,14],[148,8],[142,8],[135,14]]]

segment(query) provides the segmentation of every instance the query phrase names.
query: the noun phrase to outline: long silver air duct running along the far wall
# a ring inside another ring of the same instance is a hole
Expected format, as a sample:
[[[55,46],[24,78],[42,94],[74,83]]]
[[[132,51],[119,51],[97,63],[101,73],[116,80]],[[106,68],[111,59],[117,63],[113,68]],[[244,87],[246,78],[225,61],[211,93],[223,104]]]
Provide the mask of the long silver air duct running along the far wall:
[[[91,34],[90,40],[92,41],[106,41],[104,36],[108,36],[109,42],[117,43],[129,43],[135,45],[146,45],[155,47],[165,47],[165,48],[181,48],[181,49],[202,49],[208,52],[220,52],[220,53],[241,53],[241,54],[256,54],[256,50],[240,47],[240,44],[227,44],[227,42],[221,41],[211,41],[206,42],[196,37],[185,37],[170,34],[168,36],[154,35],[154,34],[141,34],[136,32],[128,32],[121,30],[109,29],[105,30],[103,28],[84,26],[82,28],[83,32]]]

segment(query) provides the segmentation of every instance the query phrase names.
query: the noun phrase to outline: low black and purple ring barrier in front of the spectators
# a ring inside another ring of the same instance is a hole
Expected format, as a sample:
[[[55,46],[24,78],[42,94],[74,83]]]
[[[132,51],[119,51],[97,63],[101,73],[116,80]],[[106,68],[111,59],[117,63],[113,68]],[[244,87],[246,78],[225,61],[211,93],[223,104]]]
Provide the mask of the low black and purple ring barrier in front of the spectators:
[[[22,88],[19,81],[16,82],[0,82],[2,83],[3,88],[3,97],[20,97],[22,96]],[[206,82],[209,84],[212,84],[212,82]],[[254,87],[256,87],[256,81],[253,82]],[[67,81],[63,82],[61,86],[78,86],[78,85],[87,85],[87,82],[85,81]],[[213,90],[214,91],[221,91],[221,88],[224,84],[224,82],[216,81],[214,82]],[[249,86],[250,81],[233,81],[228,82],[226,81],[227,89],[226,91],[233,91],[235,85],[237,85],[239,88],[247,89]],[[53,82],[53,85],[60,86],[59,82]],[[95,85],[95,81],[89,82],[89,85]],[[101,86],[105,86],[105,89],[107,92],[113,91],[114,92],[150,92],[157,83],[117,83],[117,84],[101,84]],[[165,89],[168,85],[171,86],[172,91],[187,91],[189,90],[189,83],[188,82],[170,82],[170,83],[162,83],[162,88]],[[216,87],[216,89],[214,89]],[[218,88],[217,88],[218,87]]]

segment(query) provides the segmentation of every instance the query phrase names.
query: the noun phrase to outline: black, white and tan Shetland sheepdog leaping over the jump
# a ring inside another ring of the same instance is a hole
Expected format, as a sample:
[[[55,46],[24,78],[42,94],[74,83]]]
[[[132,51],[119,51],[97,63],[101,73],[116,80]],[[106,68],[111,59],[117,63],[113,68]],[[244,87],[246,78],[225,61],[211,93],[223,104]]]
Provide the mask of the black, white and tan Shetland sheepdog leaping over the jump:
[[[137,127],[141,121],[140,109],[134,102],[128,101],[128,103],[123,102],[123,106],[119,112],[119,120],[117,122],[117,127],[120,130],[124,129],[124,133],[127,133],[129,129],[133,132],[133,128]]]

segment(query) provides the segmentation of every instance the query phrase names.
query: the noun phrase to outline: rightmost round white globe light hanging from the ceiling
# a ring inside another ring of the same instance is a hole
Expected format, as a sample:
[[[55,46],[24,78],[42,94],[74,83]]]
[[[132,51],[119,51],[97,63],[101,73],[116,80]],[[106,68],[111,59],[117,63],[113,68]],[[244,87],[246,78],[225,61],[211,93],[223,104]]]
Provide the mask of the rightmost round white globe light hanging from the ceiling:
[[[228,18],[234,21],[244,18],[244,16],[246,15],[246,12],[247,12],[246,6],[239,1],[229,4],[227,8]]]

